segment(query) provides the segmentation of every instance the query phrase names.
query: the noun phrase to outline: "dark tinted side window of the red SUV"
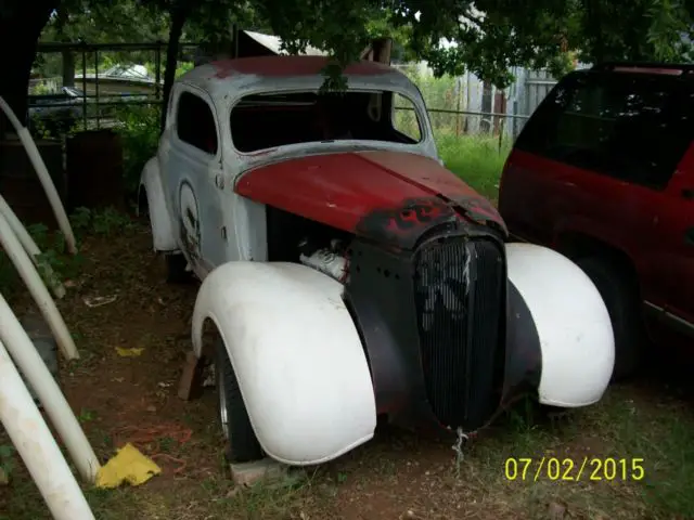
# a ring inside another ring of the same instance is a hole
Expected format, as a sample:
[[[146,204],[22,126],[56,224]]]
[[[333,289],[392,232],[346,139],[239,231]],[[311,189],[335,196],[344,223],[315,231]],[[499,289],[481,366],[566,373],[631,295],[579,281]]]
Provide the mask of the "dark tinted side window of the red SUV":
[[[670,75],[570,74],[516,148],[661,190],[694,139],[693,84]]]

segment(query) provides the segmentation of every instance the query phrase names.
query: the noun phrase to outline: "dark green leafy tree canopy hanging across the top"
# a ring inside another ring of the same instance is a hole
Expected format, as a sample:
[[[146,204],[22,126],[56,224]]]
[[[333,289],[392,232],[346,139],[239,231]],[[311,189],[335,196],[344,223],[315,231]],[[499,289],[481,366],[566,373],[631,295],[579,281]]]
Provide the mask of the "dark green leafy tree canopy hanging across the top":
[[[511,81],[512,66],[566,68],[567,50],[586,62],[692,56],[694,0],[527,0],[522,5],[516,0],[63,1],[88,2],[93,12],[99,4],[106,17],[110,10],[139,1],[165,16],[169,41],[165,91],[172,82],[187,27],[205,39],[223,39],[233,20],[248,17],[271,28],[288,51],[309,44],[330,51],[329,87],[338,87],[342,67],[357,58],[376,34],[407,39],[404,50],[428,60],[439,75],[468,69],[498,87]],[[61,0],[0,3],[0,48],[13,50],[3,63],[0,95],[21,117],[36,40],[60,5]],[[132,25],[138,24],[128,28]],[[442,38],[454,46],[441,48]]]

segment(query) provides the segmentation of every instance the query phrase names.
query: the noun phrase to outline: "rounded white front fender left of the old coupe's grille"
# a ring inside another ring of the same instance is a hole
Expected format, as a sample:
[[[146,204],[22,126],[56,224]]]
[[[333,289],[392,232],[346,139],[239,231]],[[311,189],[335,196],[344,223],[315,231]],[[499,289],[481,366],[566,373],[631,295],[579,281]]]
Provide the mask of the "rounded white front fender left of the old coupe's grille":
[[[320,464],[369,441],[376,406],[343,286],[294,263],[229,262],[201,286],[193,346],[216,324],[260,445],[291,465]]]

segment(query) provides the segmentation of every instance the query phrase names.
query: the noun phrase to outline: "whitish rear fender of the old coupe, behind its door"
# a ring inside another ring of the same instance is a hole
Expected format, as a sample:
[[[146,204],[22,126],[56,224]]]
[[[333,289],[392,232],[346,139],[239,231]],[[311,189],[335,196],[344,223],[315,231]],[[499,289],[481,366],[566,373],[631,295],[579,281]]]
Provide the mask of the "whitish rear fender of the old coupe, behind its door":
[[[140,193],[144,190],[150,208],[150,224],[152,226],[152,239],[155,251],[174,251],[178,249],[171,216],[166,207],[166,194],[159,176],[159,166],[156,157],[152,157],[142,169],[140,178]]]

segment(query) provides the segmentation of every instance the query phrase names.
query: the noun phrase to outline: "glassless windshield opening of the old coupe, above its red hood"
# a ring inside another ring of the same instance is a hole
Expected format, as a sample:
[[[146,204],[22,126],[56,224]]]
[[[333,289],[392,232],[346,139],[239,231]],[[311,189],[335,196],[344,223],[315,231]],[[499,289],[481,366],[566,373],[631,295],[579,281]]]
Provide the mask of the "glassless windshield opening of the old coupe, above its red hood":
[[[248,95],[232,108],[230,123],[231,140],[242,153],[320,141],[422,140],[414,103],[389,91]]]

